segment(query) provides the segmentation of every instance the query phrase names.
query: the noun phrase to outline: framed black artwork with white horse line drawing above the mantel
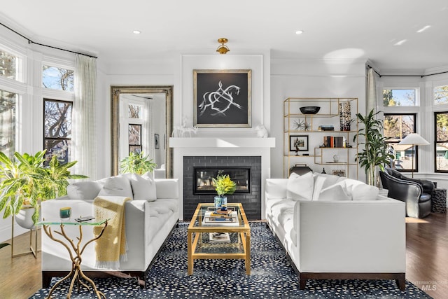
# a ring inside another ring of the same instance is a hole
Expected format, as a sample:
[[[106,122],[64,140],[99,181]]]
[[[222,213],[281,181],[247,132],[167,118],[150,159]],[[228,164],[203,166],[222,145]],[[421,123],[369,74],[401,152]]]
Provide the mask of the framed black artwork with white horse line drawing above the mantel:
[[[194,69],[195,127],[252,127],[251,69]]]

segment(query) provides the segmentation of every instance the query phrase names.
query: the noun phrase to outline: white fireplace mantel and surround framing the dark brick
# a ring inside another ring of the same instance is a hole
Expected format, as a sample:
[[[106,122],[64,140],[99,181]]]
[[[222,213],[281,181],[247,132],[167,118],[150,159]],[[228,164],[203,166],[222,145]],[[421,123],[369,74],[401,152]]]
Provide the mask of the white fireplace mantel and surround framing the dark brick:
[[[261,156],[261,216],[265,217],[265,180],[271,177],[271,148],[275,138],[256,137],[191,137],[169,138],[174,149],[173,177],[183,186],[183,157],[198,155]],[[183,188],[180,190],[179,214],[183,216]]]

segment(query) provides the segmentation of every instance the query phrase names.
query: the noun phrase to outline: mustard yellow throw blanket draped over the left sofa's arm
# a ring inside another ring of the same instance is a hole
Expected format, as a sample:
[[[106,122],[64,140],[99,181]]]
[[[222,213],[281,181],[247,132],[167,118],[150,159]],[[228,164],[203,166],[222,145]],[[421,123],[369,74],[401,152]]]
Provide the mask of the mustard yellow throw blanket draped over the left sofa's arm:
[[[120,260],[127,260],[125,235],[125,202],[130,197],[99,196],[94,199],[94,216],[97,219],[109,219],[102,237],[95,241],[97,252],[96,267],[99,269],[119,269]],[[94,227],[94,235],[101,233],[102,227]]]

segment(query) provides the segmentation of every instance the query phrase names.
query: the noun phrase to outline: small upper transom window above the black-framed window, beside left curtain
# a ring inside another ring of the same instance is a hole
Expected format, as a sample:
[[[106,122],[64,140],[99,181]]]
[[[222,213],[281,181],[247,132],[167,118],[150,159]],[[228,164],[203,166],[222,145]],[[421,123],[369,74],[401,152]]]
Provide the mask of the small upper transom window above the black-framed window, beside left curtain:
[[[73,92],[73,70],[61,67],[43,66],[42,86],[54,90],[66,90]]]

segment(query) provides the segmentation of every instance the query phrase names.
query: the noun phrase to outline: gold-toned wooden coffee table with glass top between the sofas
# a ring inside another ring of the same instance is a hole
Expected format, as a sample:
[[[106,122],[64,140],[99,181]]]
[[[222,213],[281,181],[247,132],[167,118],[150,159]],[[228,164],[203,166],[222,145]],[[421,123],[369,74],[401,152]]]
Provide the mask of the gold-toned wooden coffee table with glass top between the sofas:
[[[214,204],[198,204],[188,226],[188,275],[193,274],[194,260],[244,259],[246,274],[251,274],[251,228],[242,204],[228,204],[237,214],[235,223],[204,223],[205,213]],[[228,232],[230,242],[210,242],[209,233]]]

